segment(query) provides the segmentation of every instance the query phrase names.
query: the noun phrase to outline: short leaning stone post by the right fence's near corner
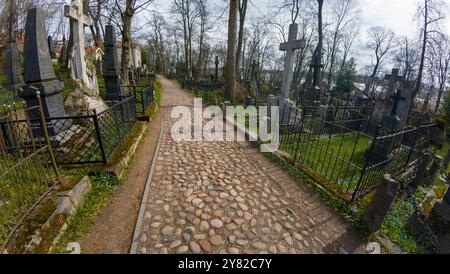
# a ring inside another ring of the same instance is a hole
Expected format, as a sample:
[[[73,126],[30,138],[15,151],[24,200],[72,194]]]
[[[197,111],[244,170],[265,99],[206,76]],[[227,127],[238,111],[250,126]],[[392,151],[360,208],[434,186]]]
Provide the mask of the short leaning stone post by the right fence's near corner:
[[[398,183],[390,174],[384,176],[378,190],[364,213],[363,220],[372,231],[378,231],[397,194]]]

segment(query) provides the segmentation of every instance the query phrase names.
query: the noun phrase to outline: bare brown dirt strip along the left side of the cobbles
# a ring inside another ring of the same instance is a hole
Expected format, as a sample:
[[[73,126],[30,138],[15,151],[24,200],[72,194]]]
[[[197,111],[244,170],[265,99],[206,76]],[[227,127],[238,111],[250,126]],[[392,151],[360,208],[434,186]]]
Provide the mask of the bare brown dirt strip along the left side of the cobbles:
[[[164,98],[164,95],[162,95]],[[164,106],[164,99],[162,101]],[[84,254],[127,254],[131,247],[139,207],[161,133],[161,107],[149,125],[149,132],[135,153],[136,162],[126,182],[116,191],[110,203],[102,209],[91,232],[79,243]]]

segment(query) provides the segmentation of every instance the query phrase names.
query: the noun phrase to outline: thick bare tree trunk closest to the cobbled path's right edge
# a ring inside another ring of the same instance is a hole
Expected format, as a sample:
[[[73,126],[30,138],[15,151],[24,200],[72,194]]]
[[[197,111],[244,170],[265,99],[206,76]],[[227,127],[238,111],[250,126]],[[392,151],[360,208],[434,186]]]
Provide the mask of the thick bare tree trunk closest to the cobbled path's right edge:
[[[228,53],[226,65],[225,100],[235,102],[236,96],[236,40],[237,13],[239,0],[230,0],[230,14],[228,19]]]

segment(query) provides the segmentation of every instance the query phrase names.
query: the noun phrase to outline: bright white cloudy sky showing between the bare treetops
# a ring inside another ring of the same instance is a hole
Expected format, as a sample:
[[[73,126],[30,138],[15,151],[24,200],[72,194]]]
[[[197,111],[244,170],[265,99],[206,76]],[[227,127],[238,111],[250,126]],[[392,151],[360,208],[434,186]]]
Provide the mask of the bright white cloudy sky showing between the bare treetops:
[[[325,0],[325,5],[327,1]],[[359,0],[361,9],[361,35],[359,41],[354,46],[353,54],[362,67],[371,63],[370,55],[364,51],[366,45],[367,29],[373,26],[384,26],[391,28],[398,36],[417,37],[418,23],[414,21],[417,12],[419,0]],[[450,0],[443,0],[447,7],[444,14],[450,15]],[[252,0],[253,5],[250,6],[250,15],[259,15],[267,11],[267,6],[276,5],[281,0]],[[171,0],[156,0],[154,7],[156,10],[170,16],[168,10]],[[223,3],[223,0],[209,0],[210,6],[217,6]],[[257,7],[257,8],[256,8]],[[445,22],[447,34],[450,34],[450,18]],[[221,35],[226,35],[222,32]],[[224,36],[225,38],[226,36]]]

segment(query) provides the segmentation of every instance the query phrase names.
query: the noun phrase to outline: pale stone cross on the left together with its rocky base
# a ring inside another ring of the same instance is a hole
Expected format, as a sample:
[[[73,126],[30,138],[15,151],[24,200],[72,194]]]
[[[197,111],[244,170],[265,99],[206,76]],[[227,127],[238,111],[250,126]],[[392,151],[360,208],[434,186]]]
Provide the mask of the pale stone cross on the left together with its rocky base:
[[[88,0],[71,0],[64,6],[64,16],[70,19],[73,46],[69,58],[75,90],[67,96],[65,105],[70,115],[90,115],[94,110],[108,109],[100,98],[95,64],[86,63],[84,29],[91,25]]]

